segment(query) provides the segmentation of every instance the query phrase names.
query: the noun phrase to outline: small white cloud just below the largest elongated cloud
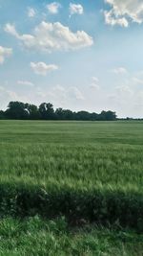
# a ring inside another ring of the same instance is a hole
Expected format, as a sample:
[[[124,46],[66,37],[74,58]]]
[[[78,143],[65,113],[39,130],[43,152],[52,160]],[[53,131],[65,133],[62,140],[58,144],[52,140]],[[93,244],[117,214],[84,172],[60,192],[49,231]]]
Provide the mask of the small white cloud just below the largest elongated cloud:
[[[54,64],[47,65],[45,62],[31,62],[31,69],[35,74],[46,76],[48,72],[57,70],[58,66]]]

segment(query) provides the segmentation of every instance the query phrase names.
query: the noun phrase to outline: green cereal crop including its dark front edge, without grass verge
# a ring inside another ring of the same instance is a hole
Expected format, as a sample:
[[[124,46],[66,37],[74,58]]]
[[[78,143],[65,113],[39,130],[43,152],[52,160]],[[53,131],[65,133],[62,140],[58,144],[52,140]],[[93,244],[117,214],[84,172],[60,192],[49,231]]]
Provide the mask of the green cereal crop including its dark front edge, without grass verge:
[[[0,121],[0,212],[143,230],[143,122]]]

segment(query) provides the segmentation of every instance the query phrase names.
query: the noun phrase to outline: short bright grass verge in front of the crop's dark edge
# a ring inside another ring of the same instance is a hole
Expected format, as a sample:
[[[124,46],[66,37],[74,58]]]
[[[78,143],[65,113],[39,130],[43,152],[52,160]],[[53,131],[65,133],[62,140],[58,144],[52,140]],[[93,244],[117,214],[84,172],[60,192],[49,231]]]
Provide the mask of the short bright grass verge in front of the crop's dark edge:
[[[64,218],[0,221],[0,255],[142,256],[143,236],[131,231],[70,228]]]

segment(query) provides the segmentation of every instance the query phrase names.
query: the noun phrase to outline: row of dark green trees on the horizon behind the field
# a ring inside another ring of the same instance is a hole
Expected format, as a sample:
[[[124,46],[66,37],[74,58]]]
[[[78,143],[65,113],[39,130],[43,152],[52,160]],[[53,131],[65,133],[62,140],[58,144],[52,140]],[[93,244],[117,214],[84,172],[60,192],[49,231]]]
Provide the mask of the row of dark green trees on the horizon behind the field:
[[[51,103],[42,103],[36,106],[21,102],[10,102],[6,111],[0,110],[0,119],[115,121],[116,113],[111,110],[102,111],[100,114],[88,111],[73,112],[61,107],[54,110]]]

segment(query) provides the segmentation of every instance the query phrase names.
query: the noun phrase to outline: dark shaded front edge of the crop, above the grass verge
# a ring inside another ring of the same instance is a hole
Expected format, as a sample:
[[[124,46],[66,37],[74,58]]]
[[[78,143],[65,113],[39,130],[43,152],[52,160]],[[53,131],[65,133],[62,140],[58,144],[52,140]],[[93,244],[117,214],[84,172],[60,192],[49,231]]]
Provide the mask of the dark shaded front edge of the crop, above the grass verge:
[[[32,186],[0,185],[1,216],[65,216],[72,224],[118,223],[143,231],[142,195],[120,191],[74,191],[72,188],[40,189]]]

